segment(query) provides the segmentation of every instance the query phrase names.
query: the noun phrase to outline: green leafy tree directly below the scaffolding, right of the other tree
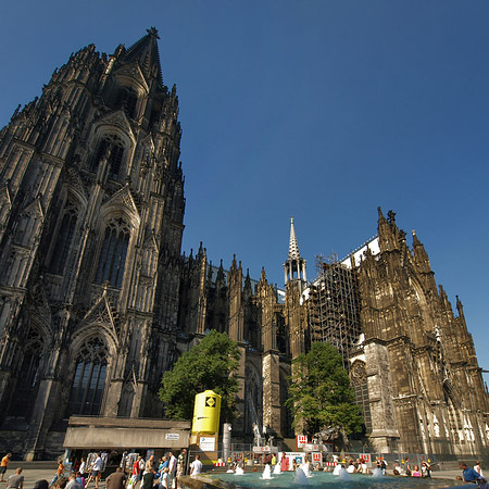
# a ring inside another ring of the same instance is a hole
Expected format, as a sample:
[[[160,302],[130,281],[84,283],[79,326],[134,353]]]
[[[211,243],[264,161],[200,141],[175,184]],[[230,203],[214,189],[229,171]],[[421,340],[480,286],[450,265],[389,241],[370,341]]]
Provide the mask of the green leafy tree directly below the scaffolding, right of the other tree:
[[[294,416],[293,425],[303,422],[310,436],[328,426],[346,435],[362,429],[362,414],[341,355],[327,342],[314,342],[309,353],[293,361],[286,405]]]

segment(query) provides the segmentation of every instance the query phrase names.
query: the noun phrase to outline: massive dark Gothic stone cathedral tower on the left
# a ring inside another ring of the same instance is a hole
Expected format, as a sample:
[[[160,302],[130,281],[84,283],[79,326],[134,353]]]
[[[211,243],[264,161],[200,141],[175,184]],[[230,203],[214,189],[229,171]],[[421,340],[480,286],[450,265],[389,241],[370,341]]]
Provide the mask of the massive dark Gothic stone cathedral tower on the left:
[[[72,414],[151,416],[175,355],[184,177],[155,28],[55,70],[0,133],[0,406],[55,453]],[[26,431],[25,431],[26,430]]]

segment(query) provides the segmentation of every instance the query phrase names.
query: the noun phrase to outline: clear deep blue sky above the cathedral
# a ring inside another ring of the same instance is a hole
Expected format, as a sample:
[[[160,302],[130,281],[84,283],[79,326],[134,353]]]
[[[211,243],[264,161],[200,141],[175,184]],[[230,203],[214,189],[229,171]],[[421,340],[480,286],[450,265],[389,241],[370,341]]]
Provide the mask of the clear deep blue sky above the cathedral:
[[[317,253],[347,255],[392,209],[489,369],[488,25],[477,0],[4,2],[0,125],[72,51],[155,26],[180,100],[184,250],[283,286],[290,215],[313,278]]]

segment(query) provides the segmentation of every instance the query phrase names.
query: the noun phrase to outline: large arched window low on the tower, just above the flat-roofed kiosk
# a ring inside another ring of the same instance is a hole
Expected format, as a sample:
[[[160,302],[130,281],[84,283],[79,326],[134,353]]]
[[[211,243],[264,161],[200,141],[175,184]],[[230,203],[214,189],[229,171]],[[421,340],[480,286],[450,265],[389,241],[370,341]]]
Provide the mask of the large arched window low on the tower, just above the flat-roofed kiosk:
[[[80,347],[76,359],[66,416],[100,414],[109,352],[100,338],[90,338]]]

